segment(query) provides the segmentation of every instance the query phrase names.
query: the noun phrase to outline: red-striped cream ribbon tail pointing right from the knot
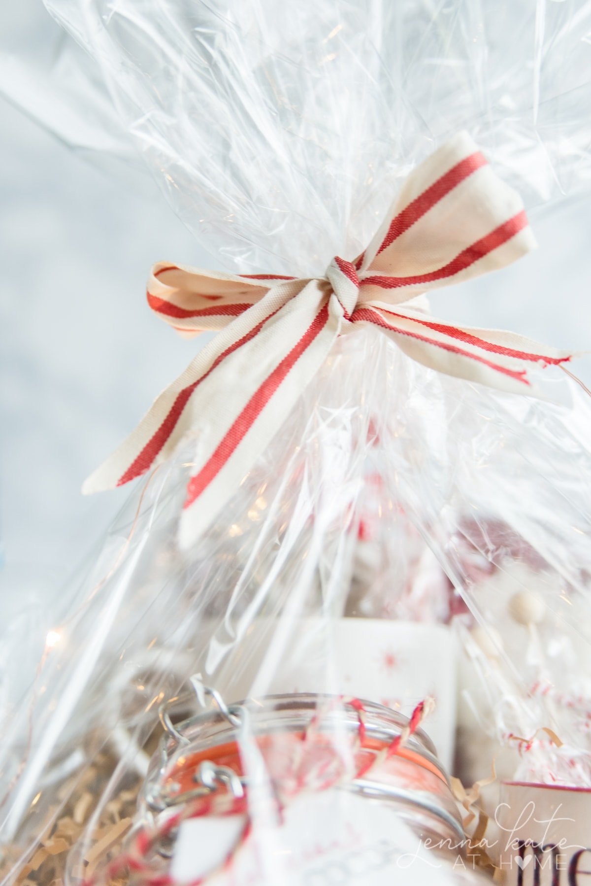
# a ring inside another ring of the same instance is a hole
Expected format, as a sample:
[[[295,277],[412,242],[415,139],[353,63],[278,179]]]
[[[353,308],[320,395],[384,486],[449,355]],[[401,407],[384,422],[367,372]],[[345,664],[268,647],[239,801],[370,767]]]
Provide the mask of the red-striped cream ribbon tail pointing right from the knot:
[[[528,369],[559,366],[573,356],[512,332],[451,326],[420,312],[393,311],[375,302],[358,308],[352,319],[374,324],[424,366],[511,393],[540,396]]]

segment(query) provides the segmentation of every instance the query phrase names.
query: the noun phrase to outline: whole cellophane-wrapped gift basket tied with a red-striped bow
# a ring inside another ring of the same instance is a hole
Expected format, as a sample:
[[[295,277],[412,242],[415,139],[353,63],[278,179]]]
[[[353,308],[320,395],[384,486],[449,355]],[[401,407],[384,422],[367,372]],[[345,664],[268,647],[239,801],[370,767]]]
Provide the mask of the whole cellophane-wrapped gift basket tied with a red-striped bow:
[[[7,639],[3,882],[523,878],[558,838],[504,813],[589,812],[591,400],[436,317],[586,186],[591,11],[46,5],[212,254],[149,307],[215,335],[87,480],[137,483],[64,618]]]

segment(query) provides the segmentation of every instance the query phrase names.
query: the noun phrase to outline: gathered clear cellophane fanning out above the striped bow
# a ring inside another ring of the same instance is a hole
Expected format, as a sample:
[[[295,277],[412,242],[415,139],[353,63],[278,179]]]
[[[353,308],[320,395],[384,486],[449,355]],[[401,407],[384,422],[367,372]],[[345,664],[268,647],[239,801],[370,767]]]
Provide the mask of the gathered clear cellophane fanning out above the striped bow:
[[[97,157],[128,157],[128,134],[216,268],[306,276],[358,254],[462,128],[528,209],[589,183],[587,3],[45,5],[88,55],[64,38],[42,66],[17,35],[4,90],[66,141],[87,125]]]

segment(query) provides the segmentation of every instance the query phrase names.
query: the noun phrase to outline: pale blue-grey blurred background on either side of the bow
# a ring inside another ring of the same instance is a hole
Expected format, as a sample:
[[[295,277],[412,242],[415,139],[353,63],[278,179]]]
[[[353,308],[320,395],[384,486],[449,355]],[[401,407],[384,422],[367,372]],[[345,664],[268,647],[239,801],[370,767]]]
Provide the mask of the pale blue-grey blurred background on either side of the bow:
[[[35,54],[59,39],[40,0],[4,4],[0,41]],[[18,71],[0,68],[0,92]],[[4,82],[2,80],[4,78]],[[43,102],[43,92],[37,94]],[[46,109],[50,118],[50,109]],[[59,588],[127,490],[84,498],[82,480],[130,431],[198,344],[148,310],[155,260],[211,266],[146,179],[99,170],[0,97],[0,619]],[[75,123],[75,121],[74,121]],[[49,125],[49,124],[48,124]],[[537,253],[440,291],[460,323],[591,347],[591,201],[531,214]],[[327,262],[330,256],[327,256]],[[579,377],[591,383],[591,361]],[[591,430],[591,429],[590,429]]]

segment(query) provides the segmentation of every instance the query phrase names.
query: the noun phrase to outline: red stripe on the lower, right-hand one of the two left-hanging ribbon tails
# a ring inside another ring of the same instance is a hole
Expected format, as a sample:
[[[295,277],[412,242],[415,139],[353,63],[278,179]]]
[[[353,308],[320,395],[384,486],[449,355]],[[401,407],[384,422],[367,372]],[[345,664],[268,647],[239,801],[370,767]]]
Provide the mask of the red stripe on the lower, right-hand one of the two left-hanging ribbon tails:
[[[315,316],[314,322],[308,328],[305,335],[299,339],[298,344],[292,347],[290,353],[284,357],[276,366],[276,369],[265,379],[258,391],[253,394],[222,439],[220,445],[215,449],[209,461],[206,462],[195,477],[191,478],[187,486],[187,498],[183,508],[189,508],[222,470],[224,464],[228,462],[239,443],[253,427],[256,419],[261,415],[261,411],[267,406],[268,401],[276,393],[277,388],[282,384],[284,378],[299,360],[299,357],[307,351],[307,348],[312,344],[316,336],[322,332],[326,323],[328,323],[328,319],[329,308],[328,305],[325,305],[320,313]]]

